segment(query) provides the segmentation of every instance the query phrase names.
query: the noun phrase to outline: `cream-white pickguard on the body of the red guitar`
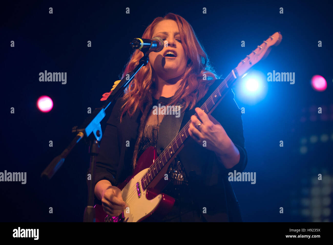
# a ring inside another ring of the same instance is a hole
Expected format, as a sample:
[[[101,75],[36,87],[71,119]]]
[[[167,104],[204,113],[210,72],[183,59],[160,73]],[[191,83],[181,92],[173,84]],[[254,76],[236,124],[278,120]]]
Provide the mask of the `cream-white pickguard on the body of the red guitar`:
[[[162,194],[157,195],[152,200],[146,198],[146,190],[142,189],[141,178],[145,175],[149,168],[146,168],[135,175],[130,182],[122,189],[122,197],[129,208],[124,209],[124,222],[138,222],[141,218],[149,215],[155,210],[162,200]],[[137,183],[141,191],[141,197],[138,197]]]

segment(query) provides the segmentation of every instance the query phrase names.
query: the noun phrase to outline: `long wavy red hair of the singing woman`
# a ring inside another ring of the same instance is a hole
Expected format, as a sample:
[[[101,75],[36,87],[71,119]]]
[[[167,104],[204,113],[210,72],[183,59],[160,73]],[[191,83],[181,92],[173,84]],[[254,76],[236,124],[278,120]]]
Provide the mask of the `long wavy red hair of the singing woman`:
[[[174,20],[177,23],[181,44],[185,54],[189,58],[189,63],[183,76],[183,82],[174,94],[173,100],[170,101],[168,105],[175,105],[176,103],[183,101],[182,106],[184,109],[188,107],[192,109],[207,93],[209,86],[215,81],[215,79],[218,79],[218,77],[215,74],[214,69],[211,67],[207,54],[200,45],[192,26],[181,16],[168,13],[165,17],[155,18],[146,28],[142,38],[153,38],[154,27],[162,20]],[[136,50],[132,54],[129,62],[125,66],[126,68],[121,79],[134,70],[142,57],[143,53],[139,50]],[[145,103],[151,101],[152,98],[152,71],[152,66],[150,62],[148,62],[146,66],[139,70],[135,78],[125,90],[123,96],[124,105],[122,107],[123,111],[120,121],[122,121],[125,112],[127,112],[130,117],[133,116],[138,109],[144,112]],[[205,80],[203,80],[203,78],[205,78]]]

